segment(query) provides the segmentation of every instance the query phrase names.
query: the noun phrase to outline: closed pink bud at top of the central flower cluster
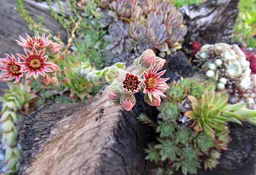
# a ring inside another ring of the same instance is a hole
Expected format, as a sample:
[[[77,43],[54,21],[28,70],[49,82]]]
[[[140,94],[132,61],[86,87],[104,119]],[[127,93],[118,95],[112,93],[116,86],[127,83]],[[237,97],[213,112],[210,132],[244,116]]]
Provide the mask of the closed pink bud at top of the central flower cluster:
[[[154,65],[156,61],[156,54],[152,49],[145,50],[140,59],[140,64],[143,68],[150,68],[151,65]]]

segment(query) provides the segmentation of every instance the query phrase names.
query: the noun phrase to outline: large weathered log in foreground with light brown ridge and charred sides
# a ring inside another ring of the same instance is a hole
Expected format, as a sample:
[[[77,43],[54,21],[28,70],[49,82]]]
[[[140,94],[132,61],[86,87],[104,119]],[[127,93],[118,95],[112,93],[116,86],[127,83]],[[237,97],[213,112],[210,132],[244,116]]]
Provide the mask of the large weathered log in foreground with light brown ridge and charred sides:
[[[141,112],[156,117],[142,102],[127,112],[103,92],[82,103],[45,105],[21,126],[20,174],[141,174],[151,129]]]

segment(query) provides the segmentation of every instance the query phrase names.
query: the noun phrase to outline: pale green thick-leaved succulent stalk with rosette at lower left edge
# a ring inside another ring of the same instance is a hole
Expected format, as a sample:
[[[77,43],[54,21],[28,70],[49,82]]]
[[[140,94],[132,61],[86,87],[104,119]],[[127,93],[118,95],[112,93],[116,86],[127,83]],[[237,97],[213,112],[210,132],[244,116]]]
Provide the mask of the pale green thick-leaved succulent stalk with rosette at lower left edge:
[[[7,174],[15,174],[19,172],[20,164],[18,162],[20,150],[17,147],[17,129],[15,124],[18,122],[17,110],[24,110],[24,114],[29,112],[29,102],[36,98],[37,95],[31,93],[28,81],[25,84],[16,86],[8,83],[10,89],[5,90],[1,101],[3,107],[1,110],[1,119],[3,122],[1,128],[2,146],[7,144],[5,153],[5,162],[7,163]],[[6,174],[5,173],[5,174]]]

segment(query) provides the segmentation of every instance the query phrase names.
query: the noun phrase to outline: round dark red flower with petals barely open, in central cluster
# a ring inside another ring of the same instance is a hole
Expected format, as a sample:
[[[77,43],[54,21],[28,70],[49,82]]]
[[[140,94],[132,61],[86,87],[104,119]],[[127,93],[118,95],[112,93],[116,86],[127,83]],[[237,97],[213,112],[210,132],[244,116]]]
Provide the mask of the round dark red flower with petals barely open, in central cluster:
[[[123,83],[123,88],[127,89],[127,91],[136,91],[139,88],[139,85],[141,83],[140,80],[138,80],[138,76],[137,75],[133,75],[132,73],[126,73],[125,79],[124,81],[122,81]]]

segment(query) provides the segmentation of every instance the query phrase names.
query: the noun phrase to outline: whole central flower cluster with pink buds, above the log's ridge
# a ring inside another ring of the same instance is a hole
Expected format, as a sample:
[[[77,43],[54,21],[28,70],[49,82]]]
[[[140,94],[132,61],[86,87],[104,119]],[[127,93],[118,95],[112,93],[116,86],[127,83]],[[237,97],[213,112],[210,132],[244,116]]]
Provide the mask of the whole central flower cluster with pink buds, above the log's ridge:
[[[169,88],[165,82],[169,78],[160,77],[166,70],[158,72],[166,60],[156,56],[153,50],[147,49],[135,61],[138,66],[137,73],[126,72],[117,66],[106,67],[114,77],[106,88],[108,97],[116,105],[122,105],[126,110],[131,110],[136,102],[134,93],[140,89],[145,93],[145,101],[148,104],[160,105],[160,96],[165,96],[164,92]],[[103,75],[105,70],[103,69],[100,74]]]

